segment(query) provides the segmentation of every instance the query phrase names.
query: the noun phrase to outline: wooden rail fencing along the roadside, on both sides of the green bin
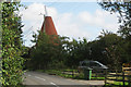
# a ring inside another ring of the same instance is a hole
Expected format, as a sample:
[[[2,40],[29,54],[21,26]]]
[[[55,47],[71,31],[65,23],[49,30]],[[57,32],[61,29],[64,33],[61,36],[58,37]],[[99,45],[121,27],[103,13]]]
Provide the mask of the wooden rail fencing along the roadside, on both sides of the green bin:
[[[79,76],[79,71],[63,71],[62,74]],[[92,71],[92,79],[103,79],[105,80],[105,85],[109,86],[122,86],[122,87],[131,87],[131,70],[122,70],[122,71],[115,71],[115,70],[93,70]]]

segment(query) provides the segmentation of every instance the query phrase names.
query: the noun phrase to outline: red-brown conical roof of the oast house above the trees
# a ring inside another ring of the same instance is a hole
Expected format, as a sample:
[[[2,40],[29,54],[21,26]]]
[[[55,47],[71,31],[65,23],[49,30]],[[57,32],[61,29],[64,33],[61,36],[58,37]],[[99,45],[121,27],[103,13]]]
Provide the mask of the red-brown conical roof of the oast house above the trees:
[[[51,16],[45,16],[45,21],[40,30],[43,33],[45,32],[47,35],[58,35]]]

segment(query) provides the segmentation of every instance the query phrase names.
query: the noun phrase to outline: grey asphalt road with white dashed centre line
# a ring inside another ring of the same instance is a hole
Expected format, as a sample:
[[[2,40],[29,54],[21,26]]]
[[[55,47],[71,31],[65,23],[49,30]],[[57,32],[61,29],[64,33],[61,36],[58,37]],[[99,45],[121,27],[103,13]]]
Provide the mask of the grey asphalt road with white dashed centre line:
[[[26,87],[102,87],[104,80],[78,80],[48,75],[39,72],[26,72],[24,85]]]

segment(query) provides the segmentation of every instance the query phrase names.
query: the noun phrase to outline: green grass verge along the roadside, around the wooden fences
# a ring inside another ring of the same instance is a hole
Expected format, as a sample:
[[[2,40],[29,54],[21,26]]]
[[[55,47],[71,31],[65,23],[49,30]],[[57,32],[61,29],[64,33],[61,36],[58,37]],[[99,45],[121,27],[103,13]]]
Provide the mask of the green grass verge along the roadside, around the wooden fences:
[[[84,74],[80,73],[79,75],[68,75],[68,74],[63,74],[63,71],[76,71],[76,70],[37,70],[37,72],[43,72],[43,73],[47,73],[47,74],[52,74],[52,75],[58,75],[61,77],[66,77],[66,78],[73,78],[73,79],[85,79],[84,78]],[[96,80],[104,80],[105,77],[104,76],[96,76],[95,74],[92,74],[92,78],[91,79],[96,79]],[[118,77],[118,79],[122,79],[122,77]],[[122,82],[114,82],[114,85],[109,85],[107,84],[106,87],[122,87],[123,83]],[[124,83],[126,87],[128,87],[129,83]],[[116,85],[116,86],[115,86]],[[117,86],[118,85],[118,86]]]

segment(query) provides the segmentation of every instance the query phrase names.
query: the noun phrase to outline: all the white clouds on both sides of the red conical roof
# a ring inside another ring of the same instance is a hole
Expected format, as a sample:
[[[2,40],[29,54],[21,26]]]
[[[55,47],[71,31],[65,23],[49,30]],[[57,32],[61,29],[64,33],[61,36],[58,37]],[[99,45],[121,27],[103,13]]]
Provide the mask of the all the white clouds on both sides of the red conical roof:
[[[45,9],[43,3],[33,3],[26,10],[21,10],[22,20],[25,26],[23,27],[24,39],[26,46],[32,45],[33,32],[40,29],[44,22]],[[71,38],[87,38],[93,39],[98,36],[102,28],[116,32],[118,28],[116,15],[110,15],[108,12],[96,10],[95,13],[79,12],[59,13],[56,8],[48,7],[47,14],[52,16],[56,29],[61,36]]]

